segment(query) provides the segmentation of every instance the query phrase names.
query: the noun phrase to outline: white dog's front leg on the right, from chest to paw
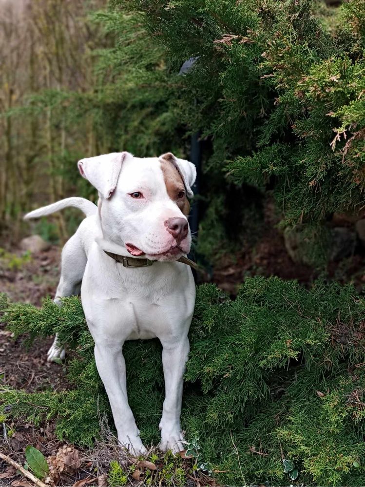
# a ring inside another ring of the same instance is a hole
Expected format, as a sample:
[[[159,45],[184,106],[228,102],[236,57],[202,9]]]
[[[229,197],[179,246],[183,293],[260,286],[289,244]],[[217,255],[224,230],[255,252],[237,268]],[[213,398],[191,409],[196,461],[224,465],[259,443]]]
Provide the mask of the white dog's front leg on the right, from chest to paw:
[[[180,413],[185,364],[189,353],[187,336],[174,339],[161,339],[162,365],[165,377],[165,401],[163,403],[161,430],[162,451],[177,453],[184,449],[180,427]]]

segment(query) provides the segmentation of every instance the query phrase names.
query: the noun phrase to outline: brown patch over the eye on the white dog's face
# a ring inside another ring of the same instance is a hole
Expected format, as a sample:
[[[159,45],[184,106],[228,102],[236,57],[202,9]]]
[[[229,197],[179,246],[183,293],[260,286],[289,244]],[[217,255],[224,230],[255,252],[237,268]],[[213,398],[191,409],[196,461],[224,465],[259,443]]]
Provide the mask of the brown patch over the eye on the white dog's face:
[[[186,196],[184,181],[173,164],[174,156],[170,152],[161,156],[161,169],[167,194],[177,204],[184,215],[190,212],[190,204]]]

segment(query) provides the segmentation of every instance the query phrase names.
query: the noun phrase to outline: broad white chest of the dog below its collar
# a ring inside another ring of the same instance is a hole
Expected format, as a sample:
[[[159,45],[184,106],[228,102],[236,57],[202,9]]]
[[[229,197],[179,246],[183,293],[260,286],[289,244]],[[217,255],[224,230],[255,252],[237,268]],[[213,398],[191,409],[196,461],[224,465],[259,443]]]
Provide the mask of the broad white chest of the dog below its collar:
[[[188,268],[177,263],[180,267],[169,266],[166,272],[159,265],[125,269],[112,264],[102,273],[87,266],[84,274],[81,299],[93,332],[136,340],[178,334],[188,326],[195,290]]]

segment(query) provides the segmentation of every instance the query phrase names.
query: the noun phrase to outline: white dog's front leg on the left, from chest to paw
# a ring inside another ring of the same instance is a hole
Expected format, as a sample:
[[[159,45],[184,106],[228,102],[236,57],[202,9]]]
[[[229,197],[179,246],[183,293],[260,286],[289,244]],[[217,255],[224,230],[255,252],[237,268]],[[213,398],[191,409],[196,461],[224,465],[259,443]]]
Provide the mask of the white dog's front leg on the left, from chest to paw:
[[[139,430],[128,404],[122,348],[122,343],[112,345],[110,341],[96,342],[96,367],[108,394],[119,443],[128,448],[132,454],[139,455],[146,453],[147,450],[139,437]]]

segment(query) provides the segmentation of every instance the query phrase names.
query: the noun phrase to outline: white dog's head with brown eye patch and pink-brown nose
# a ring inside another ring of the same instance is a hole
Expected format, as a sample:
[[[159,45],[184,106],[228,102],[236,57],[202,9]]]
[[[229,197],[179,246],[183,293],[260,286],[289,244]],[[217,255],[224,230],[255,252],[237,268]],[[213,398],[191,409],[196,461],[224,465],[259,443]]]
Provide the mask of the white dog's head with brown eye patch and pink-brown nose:
[[[128,152],[81,159],[78,169],[99,193],[103,236],[134,256],[176,260],[192,242],[188,214],[195,166],[167,153]]]

